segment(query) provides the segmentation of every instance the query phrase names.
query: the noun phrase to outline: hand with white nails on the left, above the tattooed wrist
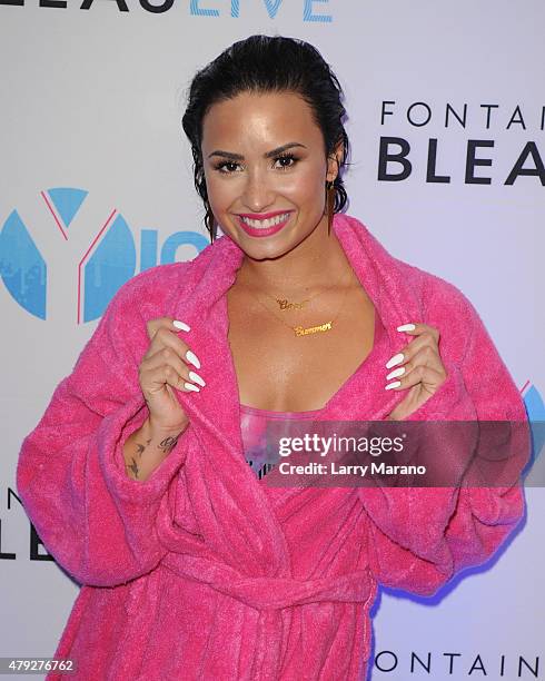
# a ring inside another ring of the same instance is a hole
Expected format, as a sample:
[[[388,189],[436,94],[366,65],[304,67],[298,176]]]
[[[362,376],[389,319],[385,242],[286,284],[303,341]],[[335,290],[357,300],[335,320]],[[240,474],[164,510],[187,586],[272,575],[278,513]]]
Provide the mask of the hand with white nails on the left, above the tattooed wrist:
[[[189,327],[170,317],[150,319],[146,326],[150,345],[138,368],[140,387],[149,409],[152,430],[185,430],[189,418],[176,391],[199,391],[205,381],[195,373],[200,362],[189,346],[176,335]]]

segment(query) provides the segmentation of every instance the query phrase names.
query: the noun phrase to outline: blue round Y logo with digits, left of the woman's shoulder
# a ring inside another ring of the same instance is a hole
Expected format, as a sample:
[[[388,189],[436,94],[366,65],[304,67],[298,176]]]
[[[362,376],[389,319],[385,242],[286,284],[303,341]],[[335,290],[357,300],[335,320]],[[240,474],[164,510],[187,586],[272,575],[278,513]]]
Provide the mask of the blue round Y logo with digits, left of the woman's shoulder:
[[[180,246],[194,247],[197,255],[208,243],[197,231],[177,231],[162,244],[158,261],[157,230],[142,229],[140,272],[174,263]],[[77,272],[67,273],[67,261]],[[40,319],[48,317],[49,297],[67,297],[66,280],[72,277],[78,324],[97,319],[136,269],[135,238],[123,216],[105,210],[82,189],[41,191],[38,203],[12,210],[0,231],[0,276],[12,298]]]

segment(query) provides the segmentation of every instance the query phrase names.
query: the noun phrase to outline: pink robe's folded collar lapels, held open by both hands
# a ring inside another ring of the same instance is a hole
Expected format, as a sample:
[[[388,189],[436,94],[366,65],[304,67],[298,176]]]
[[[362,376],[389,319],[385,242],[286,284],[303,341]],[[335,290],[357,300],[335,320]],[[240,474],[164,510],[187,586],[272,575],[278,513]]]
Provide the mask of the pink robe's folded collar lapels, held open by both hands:
[[[361,286],[371,298],[386,333],[380,347],[374,348],[368,362],[330,398],[318,420],[382,420],[403,398],[400,394],[384,389],[385,364],[407,343],[407,336],[397,332],[396,327],[422,319],[423,310],[414,288],[399,273],[398,260],[361,223],[337,214],[334,230]],[[180,300],[177,310],[178,318],[191,326],[188,343],[201,361],[200,373],[207,386],[200,393],[178,393],[178,398],[191,420],[200,445],[195,452],[201,452],[201,456],[210,460],[210,473],[216,471],[218,475],[221,470],[219,477],[226,486],[225,493],[232,497],[234,503],[240,487],[244,487],[249,492],[250,506],[255,509],[267,503],[265,490],[278,500],[296,493],[297,488],[274,491],[266,487],[257,481],[245,461],[238,383],[227,338],[229,320],[226,295],[235,282],[244,254],[227,236],[207,250],[209,253],[204,258],[200,279],[192,296],[189,300]],[[278,537],[278,527],[270,530]]]

